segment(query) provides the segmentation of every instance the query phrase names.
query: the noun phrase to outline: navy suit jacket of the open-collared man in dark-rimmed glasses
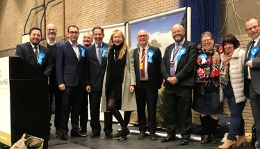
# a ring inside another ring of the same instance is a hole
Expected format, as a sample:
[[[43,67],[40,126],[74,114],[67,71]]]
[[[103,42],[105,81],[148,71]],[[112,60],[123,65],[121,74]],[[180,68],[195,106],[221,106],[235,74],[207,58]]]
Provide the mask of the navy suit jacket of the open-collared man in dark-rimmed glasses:
[[[78,47],[81,46],[82,45],[78,45]],[[86,76],[84,73],[85,58],[81,56],[80,48],[79,54],[80,58],[78,59],[69,41],[58,45],[56,56],[56,77],[58,85],[77,86],[80,82],[81,86],[86,88]]]

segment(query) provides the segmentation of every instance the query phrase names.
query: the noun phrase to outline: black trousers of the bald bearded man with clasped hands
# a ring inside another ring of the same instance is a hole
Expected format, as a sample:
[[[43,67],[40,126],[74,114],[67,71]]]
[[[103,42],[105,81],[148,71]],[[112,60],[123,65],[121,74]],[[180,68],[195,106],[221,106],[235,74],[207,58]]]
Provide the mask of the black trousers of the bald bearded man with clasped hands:
[[[181,137],[190,139],[192,91],[190,87],[178,86],[165,88],[165,111],[168,136],[175,135],[179,123]]]

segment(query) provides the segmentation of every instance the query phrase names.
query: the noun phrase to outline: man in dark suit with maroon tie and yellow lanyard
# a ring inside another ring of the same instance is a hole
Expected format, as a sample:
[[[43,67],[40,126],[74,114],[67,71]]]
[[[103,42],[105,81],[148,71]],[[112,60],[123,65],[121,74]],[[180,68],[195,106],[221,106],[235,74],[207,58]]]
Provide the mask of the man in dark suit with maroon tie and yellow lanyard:
[[[163,76],[161,75],[161,51],[158,47],[148,45],[149,36],[145,30],[138,32],[137,40],[139,47],[133,49],[133,57],[136,72],[136,104],[140,130],[138,139],[145,138],[148,126],[150,139],[156,140],[156,104],[158,89],[161,88],[163,81]],[[151,59],[149,60],[149,58]],[[148,123],[145,116],[146,105]]]

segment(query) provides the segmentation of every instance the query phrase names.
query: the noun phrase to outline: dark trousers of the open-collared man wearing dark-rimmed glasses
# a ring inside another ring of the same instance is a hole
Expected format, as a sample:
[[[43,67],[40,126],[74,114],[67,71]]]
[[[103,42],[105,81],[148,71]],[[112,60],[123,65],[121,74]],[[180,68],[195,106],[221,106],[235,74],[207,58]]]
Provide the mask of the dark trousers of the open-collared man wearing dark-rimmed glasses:
[[[71,118],[72,130],[71,134],[79,132],[79,113],[83,100],[83,86],[79,83],[78,86],[65,86],[63,91],[63,107],[61,110],[60,130],[63,134],[69,132],[67,123]],[[71,113],[71,116],[70,116]]]

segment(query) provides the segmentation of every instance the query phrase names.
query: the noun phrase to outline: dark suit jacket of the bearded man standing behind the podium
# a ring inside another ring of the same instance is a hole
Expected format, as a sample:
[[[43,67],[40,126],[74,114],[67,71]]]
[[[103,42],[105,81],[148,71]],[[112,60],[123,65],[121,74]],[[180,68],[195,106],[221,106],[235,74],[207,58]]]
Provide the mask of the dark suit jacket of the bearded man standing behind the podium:
[[[33,67],[37,68],[45,75],[49,76],[51,75],[51,70],[53,68],[51,53],[49,52],[49,49],[47,47],[43,47],[42,45],[39,45],[39,52],[44,53],[44,58],[42,59],[42,65],[37,64],[38,60],[33,51],[33,47],[31,46],[31,42],[26,42],[17,45],[15,55],[17,57],[22,58],[30,65],[33,65]]]

